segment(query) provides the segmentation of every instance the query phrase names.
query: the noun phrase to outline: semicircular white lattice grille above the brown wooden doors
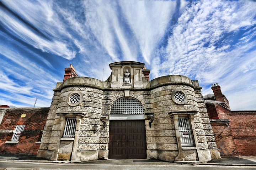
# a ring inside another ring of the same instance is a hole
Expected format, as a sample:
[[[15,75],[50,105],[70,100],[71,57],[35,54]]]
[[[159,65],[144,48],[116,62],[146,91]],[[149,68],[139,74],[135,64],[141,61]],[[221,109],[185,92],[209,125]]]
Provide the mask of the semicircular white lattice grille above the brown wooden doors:
[[[110,114],[144,114],[144,108],[135,98],[123,97],[114,102]]]

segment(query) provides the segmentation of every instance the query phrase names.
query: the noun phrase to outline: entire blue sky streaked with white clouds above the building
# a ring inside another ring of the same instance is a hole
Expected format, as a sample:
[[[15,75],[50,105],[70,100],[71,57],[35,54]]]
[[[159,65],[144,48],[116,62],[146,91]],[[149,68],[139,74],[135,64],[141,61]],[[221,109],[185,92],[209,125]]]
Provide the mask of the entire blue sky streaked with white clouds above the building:
[[[49,107],[70,64],[106,80],[138,61],[150,79],[218,82],[232,110],[256,110],[256,1],[0,1],[0,104]]]

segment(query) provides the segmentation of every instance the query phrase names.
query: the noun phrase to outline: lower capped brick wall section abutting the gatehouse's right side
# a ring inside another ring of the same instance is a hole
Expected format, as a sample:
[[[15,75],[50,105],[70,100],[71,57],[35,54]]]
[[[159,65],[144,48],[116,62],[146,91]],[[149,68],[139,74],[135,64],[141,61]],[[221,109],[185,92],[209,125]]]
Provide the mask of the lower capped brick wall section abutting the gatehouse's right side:
[[[223,119],[210,119],[216,144],[220,151],[220,156],[238,156],[236,144],[227,124],[229,121]],[[213,121],[216,120],[216,121]]]

